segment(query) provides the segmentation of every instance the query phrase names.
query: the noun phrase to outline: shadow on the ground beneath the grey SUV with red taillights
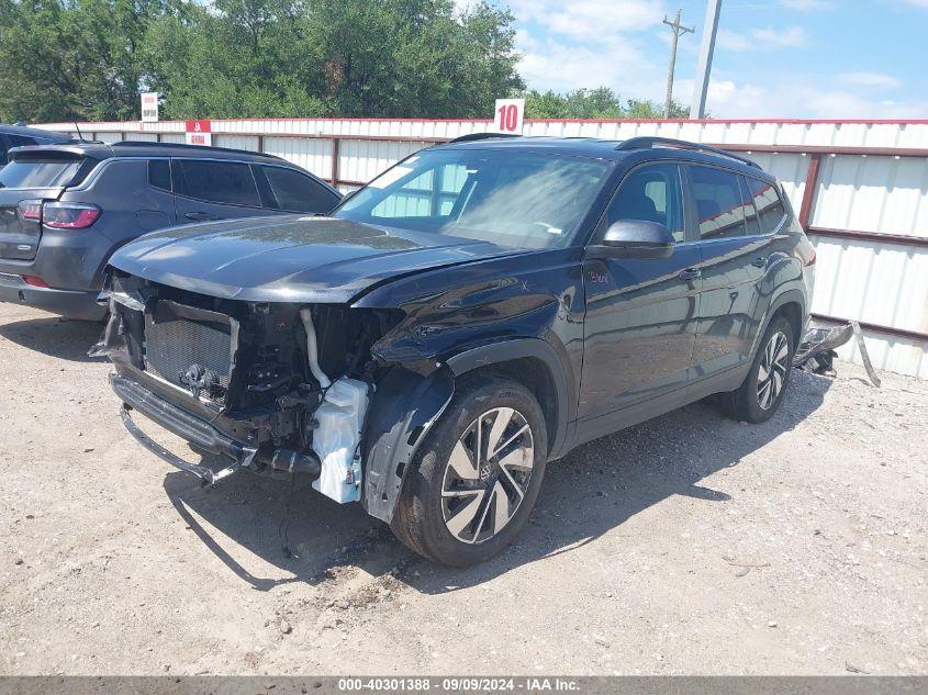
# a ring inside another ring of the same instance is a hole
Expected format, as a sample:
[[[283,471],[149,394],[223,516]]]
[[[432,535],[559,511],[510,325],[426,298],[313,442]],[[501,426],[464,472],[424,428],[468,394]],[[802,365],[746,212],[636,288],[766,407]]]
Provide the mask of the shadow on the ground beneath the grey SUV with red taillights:
[[[0,336],[11,343],[72,362],[99,361],[87,357],[87,350],[100,339],[102,332],[102,323],[59,316],[0,324]]]

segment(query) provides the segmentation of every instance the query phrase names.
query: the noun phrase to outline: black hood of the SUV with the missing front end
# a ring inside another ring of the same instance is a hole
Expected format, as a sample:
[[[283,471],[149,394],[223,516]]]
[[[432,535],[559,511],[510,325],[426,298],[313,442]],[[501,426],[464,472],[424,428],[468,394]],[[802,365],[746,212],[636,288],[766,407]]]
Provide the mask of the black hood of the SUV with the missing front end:
[[[224,299],[342,303],[383,280],[514,253],[443,234],[287,215],[161,229],[122,247],[110,265]]]

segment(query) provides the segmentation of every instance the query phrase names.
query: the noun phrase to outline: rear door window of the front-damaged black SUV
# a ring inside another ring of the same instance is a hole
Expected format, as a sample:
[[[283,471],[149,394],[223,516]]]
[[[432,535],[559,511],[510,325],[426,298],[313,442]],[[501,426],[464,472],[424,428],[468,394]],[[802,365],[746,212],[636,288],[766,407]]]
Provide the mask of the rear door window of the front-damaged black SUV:
[[[690,167],[700,238],[745,236],[745,201],[738,176],[713,167]]]

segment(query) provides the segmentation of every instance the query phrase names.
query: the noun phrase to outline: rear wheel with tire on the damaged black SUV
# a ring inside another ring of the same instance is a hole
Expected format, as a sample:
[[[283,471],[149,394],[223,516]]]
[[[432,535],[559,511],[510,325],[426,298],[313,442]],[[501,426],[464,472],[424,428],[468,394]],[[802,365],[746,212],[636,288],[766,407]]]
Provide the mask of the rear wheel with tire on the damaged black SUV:
[[[790,322],[783,316],[774,317],[758,343],[745,381],[735,391],[722,394],[726,413],[734,419],[754,424],[773,417],[790,385],[794,352]]]

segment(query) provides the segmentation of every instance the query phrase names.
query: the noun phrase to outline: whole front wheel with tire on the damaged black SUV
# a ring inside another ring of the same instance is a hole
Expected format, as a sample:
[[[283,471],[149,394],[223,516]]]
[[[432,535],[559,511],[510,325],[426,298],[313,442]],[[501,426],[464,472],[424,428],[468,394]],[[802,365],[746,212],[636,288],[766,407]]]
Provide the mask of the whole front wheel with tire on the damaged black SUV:
[[[519,533],[541,486],[545,418],[522,384],[477,374],[422,442],[393,516],[396,537],[452,567],[482,562]]]

